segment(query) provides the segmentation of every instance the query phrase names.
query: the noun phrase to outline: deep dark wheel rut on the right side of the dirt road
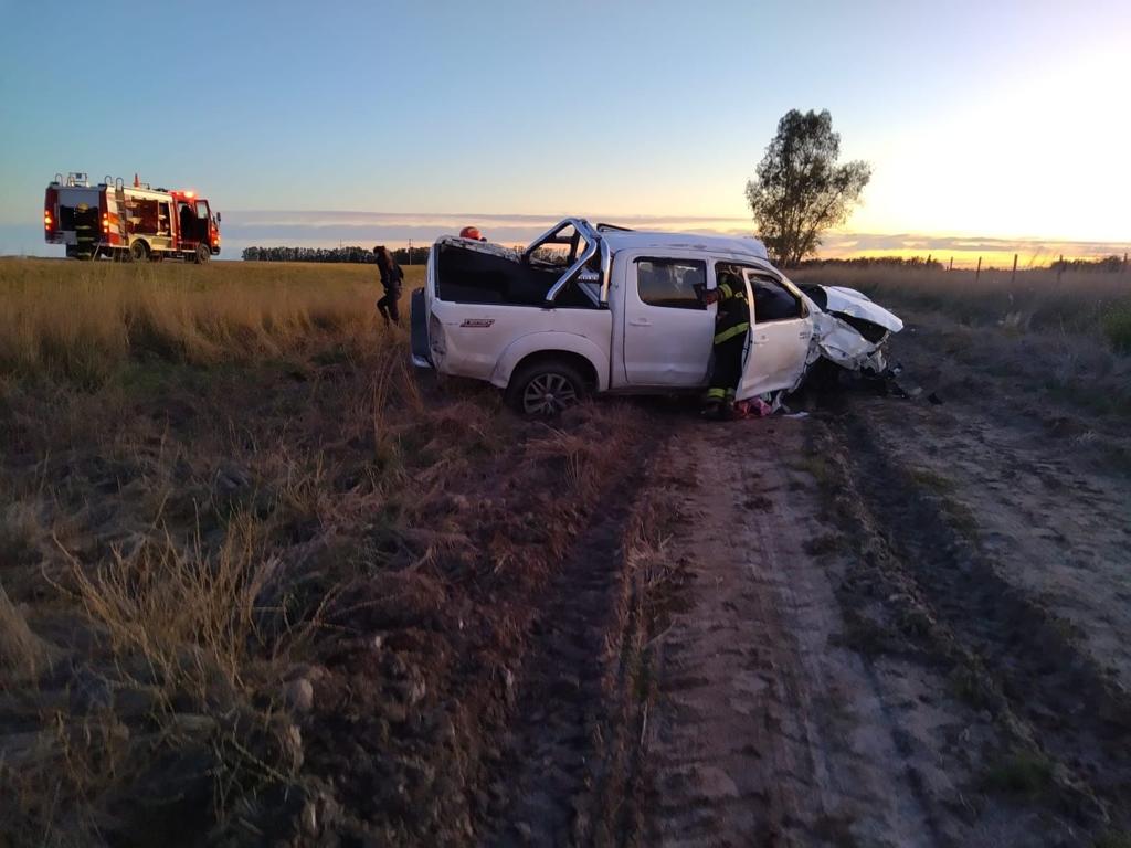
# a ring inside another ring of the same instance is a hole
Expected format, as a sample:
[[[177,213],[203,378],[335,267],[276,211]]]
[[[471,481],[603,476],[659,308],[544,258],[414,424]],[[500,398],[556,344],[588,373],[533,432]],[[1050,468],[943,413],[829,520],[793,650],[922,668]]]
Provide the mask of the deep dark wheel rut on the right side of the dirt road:
[[[1063,622],[1008,582],[940,499],[899,466],[854,413],[837,424],[840,455],[863,507],[884,529],[893,563],[953,638],[965,674],[1000,724],[1059,764],[1061,812],[1093,830],[1131,824],[1131,699]],[[966,528],[969,530],[969,528]],[[1018,725],[1013,719],[1020,719]]]

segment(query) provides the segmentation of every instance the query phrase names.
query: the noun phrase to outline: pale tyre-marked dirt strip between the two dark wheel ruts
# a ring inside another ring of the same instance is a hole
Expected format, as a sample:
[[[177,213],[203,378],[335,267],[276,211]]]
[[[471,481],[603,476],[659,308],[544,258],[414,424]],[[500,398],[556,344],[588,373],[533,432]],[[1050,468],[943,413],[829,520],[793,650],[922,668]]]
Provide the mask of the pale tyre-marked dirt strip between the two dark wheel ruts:
[[[909,729],[866,663],[838,644],[811,485],[787,464],[810,422],[742,422],[670,448],[689,483],[672,555],[696,576],[657,640],[644,759],[645,845],[950,843]]]

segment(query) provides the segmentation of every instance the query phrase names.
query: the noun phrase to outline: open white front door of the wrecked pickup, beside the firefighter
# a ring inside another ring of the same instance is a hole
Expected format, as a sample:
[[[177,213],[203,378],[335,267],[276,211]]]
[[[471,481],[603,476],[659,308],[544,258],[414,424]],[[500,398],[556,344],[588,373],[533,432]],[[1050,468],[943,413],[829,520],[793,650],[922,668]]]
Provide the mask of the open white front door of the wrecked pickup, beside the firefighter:
[[[757,270],[744,269],[742,276],[751,323],[737,400],[795,388],[813,337],[813,319],[800,293]]]

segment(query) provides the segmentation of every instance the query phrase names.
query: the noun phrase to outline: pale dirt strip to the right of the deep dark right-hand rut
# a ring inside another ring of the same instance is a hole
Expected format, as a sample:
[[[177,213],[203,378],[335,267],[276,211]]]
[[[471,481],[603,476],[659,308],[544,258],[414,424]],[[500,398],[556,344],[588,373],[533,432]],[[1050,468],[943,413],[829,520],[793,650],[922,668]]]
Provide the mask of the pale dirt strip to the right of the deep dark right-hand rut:
[[[1003,579],[1065,618],[1131,685],[1131,481],[1000,400],[857,404],[883,453],[976,523]]]

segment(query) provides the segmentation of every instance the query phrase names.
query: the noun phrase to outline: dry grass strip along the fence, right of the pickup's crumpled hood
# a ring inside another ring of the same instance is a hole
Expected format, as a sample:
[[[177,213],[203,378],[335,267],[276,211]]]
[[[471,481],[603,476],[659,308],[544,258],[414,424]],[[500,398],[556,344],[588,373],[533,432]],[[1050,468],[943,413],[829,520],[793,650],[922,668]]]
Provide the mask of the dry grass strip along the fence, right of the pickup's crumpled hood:
[[[1105,338],[1131,351],[1131,274],[848,268],[792,272],[797,282],[858,288],[881,303],[942,312],[1011,331],[1057,331]]]

